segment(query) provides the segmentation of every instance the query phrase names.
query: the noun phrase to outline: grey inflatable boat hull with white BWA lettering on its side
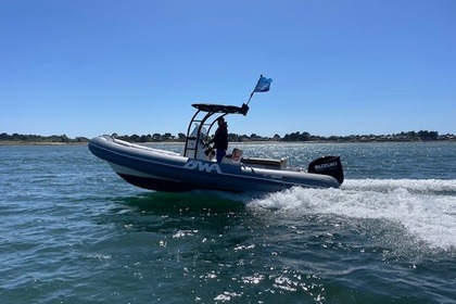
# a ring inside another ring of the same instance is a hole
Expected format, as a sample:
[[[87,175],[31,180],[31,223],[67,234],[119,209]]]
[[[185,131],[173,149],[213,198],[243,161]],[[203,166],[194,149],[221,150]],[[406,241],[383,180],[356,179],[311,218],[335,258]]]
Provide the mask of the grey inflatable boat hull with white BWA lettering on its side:
[[[131,185],[157,191],[221,190],[231,192],[280,191],[294,186],[338,188],[331,176],[266,169],[243,165],[194,160],[113,139],[96,137],[89,150],[106,161],[113,170]]]

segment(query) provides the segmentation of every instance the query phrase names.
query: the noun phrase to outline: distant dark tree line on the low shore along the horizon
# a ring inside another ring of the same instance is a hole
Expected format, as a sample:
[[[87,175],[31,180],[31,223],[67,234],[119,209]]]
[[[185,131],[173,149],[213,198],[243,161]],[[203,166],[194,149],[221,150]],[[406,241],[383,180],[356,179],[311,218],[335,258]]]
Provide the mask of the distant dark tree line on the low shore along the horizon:
[[[129,142],[185,142],[186,135],[179,132],[177,136],[170,132],[165,134],[153,134],[153,135],[112,135],[115,138],[126,140]],[[325,142],[368,142],[368,141],[433,141],[433,140],[456,140],[456,137],[452,134],[439,135],[438,131],[407,131],[393,135],[351,135],[351,136],[314,136],[309,132],[291,132],[283,137],[275,135],[274,137],[262,137],[256,134],[237,135],[229,134],[228,140],[231,142],[249,142],[249,141],[325,141]],[[86,137],[68,138],[66,135],[52,135],[52,136],[39,136],[39,135],[20,135],[13,134],[8,135],[5,132],[0,134],[0,142],[53,142],[53,143],[83,143],[88,142],[89,139]]]

